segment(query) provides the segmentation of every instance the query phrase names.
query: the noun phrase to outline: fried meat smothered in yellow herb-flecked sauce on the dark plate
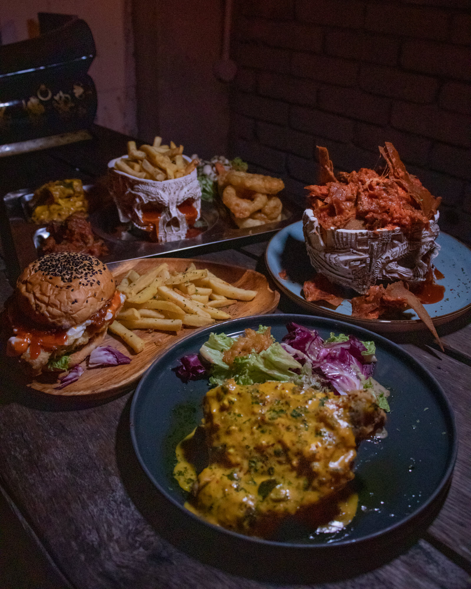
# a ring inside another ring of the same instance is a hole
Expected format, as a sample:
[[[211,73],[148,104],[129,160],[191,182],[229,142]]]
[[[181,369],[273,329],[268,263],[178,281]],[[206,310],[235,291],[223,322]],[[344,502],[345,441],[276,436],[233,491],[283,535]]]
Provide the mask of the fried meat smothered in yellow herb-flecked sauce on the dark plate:
[[[207,392],[203,408],[204,425],[177,448],[174,474],[191,489],[188,508],[260,537],[273,535],[286,518],[317,526],[337,517],[354,478],[357,443],[386,421],[368,391],[340,398],[280,382],[227,380]],[[194,455],[192,444],[207,455],[198,475],[183,458]]]

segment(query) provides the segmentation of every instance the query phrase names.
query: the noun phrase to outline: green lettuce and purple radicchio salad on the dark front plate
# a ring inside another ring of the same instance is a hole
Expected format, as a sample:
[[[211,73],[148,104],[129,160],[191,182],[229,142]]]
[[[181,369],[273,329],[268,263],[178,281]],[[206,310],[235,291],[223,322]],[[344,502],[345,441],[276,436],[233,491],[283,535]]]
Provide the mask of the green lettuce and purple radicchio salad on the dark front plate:
[[[389,411],[389,391],[373,379],[376,363],[374,342],[361,342],[354,335],[330,334],[323,340],[316,330],[297,323],[286,325],[287,334],[276,342],[270,335],[270,327],[260,325],[258,330],[246,330],[245,336],[229,337],[224,333],[211,333],[199,354],[190,354],[180,359],[176,369],[182,380],[209,378],[210,385],[217,386],[227,379],[238,385],[253,385],[268,380],[294,382],[303,388],[334,391],[347,395],[350,391],[370,389],[377,404]],[[250,332],[250,333],[248,333]],[[264,349],[256,351],[241,347],[241,338],[257,342],[257,336],[267,342]],[[268,337],[268,339],[267,339]],[[230,358],[230,350],[238,346],[246,352]]]

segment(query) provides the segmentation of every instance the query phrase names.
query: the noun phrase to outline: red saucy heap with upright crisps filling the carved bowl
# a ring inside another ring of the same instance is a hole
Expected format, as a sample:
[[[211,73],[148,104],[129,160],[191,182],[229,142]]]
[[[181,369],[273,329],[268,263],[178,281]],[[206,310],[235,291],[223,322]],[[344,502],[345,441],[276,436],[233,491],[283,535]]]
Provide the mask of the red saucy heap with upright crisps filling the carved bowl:
[[[406,233],[429,226],[440,204],[407,173],[391,143],[380,147],[387,169],[361,168],[334,176],[326,148],[319,147],[320,184],[307,186],[309,203],[324,229],[394,229]]]

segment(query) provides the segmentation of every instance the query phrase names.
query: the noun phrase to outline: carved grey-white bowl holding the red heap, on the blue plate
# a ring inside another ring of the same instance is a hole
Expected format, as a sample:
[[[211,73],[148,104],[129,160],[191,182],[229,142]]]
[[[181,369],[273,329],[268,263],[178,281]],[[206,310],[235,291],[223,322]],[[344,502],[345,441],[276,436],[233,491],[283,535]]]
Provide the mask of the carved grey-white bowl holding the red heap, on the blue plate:
[[[428,229],[405,236],[400,227],[323,229],[312,209],[303,214],[303,232],[312,266],[330,282],[361,294],[380,280],[423,282],[440,246],[439,213]]]

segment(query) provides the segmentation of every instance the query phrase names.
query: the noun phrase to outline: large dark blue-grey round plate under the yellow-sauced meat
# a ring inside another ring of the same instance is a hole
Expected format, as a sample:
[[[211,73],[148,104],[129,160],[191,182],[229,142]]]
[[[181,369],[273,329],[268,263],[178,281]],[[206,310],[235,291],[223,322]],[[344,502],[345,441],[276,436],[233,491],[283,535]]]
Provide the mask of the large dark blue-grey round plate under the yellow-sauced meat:
[[[309,527],[294,525],[269,541],[213,526],[184,508],[187,494],[173,478],[175,446],[200,423],[201,401],[210,386],[206,379],[184,384],[174,368],[181,356],[197,353],[211,331],[233,336],[247,327],[257,329],[261,323],[270,326],[279,341],[290,321],[317,329],[324,338],[330,332],[343,332],[361,340],[373,339],[377,356],[374,378],[390,389],[391,412],[387,437],[360,444],[354,479],[359,507],[351,524],[335,534],[316,534]],[[393,558],[411,535],[418,537],[436,517],[446,495],[457,445],[453,412],[442,389],[412,356],[361,327],[307,315],[244,317],[208,327],[178,342],[154,362],[138,385],[131,406],[131,438],[142,468],[178,508],[175,511],[180,516],[175,517],[183,516],[180,525],[188,537],[193,534],[187,550],[202,560],[212,558],[211,564],[233,572],[240,573],[237,562],[242,560],[243,574],[248,576],[260,576],[259,568],[266,559],[278,582],[282,578],[293,580],[291,573],[304,581],[319,581],[326,571],[330,571],[327,578],[336,577],[343,570],[341,562],[356,567],[353,572],[359,573]],[[295,568],[291,558],[296,559]],[[231,559],[232,567],[228,565]],[[318,569],[320,563],[322,570]],[[351,572],[350,568],[344,574]]]

